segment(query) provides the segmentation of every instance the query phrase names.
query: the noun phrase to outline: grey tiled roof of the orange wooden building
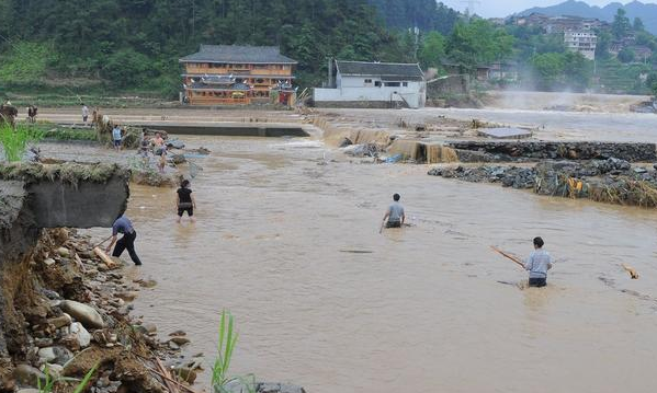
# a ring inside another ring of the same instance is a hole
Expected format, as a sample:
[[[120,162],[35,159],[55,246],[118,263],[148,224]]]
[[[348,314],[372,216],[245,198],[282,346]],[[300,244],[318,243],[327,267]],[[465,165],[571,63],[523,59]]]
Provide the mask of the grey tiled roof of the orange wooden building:
[[[287,63],[295,60],[281,55],[277,46],[201,45],[201,49],[181,62]]]

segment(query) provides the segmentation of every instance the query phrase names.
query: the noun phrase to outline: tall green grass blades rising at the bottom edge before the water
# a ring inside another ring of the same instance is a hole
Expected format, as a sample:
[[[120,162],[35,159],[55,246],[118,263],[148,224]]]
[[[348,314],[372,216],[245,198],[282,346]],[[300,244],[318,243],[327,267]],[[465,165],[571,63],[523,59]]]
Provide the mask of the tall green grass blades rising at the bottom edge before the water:
[[[230,312],[222,312],[219,323],[219,342],[217,344],[217,358],[212,368],[212,388],[215,393],[256,392],[256,378],[253,374],[246,377],[228,377],[228,368],[233,358],[233,350],[237,344],[235,320]]]

